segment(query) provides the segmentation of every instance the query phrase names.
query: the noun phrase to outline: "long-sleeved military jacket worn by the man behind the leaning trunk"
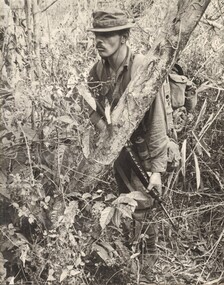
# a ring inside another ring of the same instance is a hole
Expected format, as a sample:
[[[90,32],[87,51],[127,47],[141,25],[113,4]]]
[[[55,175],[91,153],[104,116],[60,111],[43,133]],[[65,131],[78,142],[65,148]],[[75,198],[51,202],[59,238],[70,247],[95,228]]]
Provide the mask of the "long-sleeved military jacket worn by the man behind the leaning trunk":
[[[114,109],[144,58],[142,54],[134,55],[128,48],[116,75],[111,75],[107,60],[101,59],[94,64],[88,78],[90,91],[97,101],[97,111],[90,114],[93,123],[100,118],[105,119],[106,102],[109,102],[111,110]],[[164,172],[167,166],[168,138],[164,104],[162,92],[159,92],[131,138],[133,143],[139,136],[145,139],[149,157],[144,164],[147,171],[151,172]]]

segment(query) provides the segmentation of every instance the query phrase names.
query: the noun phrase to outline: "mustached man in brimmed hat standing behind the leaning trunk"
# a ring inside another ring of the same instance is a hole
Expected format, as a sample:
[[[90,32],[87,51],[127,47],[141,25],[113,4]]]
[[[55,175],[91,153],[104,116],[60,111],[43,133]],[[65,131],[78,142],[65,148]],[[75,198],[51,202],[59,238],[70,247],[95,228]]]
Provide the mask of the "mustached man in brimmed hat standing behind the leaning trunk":
[[[143,55],[133,54],[127,45],[133,25],[120,9],[110,8],[93,12],[93,27],[89,31],[95,35],[96,49],[101,59],[90,70],[88,84],[97,101],[97,111],[90,113],[90,119],[99,130],[106,127],[105,107],[109,105],[111,111],[115,108],[139,65],[144,61]],[[133,133],[131,141],[150,176],[148,189],[156,187],[161,192],[161,173],[165,172],[167,166],[168,142],[161,92],[157,94],[150,110]],[[130,192],[133,188],[138,191],[139,187],[142,187],[138,177],[127,164],[124,150],[115,161],[114,168],[120,193]],[[134,214],[134,239],[136,241],[140,233],[144,233],[147,240],[143,252],[145,270],[153,266],[157,257],[155,227],[146,220],[152,205],[151,199],[147,203],[139,203]]]

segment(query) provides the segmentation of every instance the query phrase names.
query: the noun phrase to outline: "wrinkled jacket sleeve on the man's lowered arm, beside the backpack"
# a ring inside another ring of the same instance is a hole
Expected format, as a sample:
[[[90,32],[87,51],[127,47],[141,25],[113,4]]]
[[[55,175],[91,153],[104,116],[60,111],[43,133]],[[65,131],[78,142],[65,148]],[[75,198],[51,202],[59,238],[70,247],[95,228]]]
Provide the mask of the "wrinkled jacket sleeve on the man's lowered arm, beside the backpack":
[[[153,104],[144,118],[145,140],[149,159],[145,161],[147,171],[164,172],[167,167],[167,123],[162,89],[156,95]]]

